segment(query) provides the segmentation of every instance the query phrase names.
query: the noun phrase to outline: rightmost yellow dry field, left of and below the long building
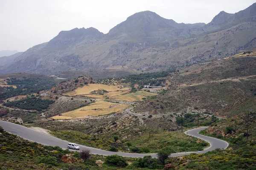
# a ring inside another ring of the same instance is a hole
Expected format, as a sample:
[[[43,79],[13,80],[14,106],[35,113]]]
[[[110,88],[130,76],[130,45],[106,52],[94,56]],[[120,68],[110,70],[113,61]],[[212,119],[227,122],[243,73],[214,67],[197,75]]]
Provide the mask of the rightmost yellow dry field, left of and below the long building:
[[[136,93],[124,94],[119,96],[114,96],[113,100],[121,100],[121,101],[142,101],[142,98],[146,98],[147,96],[155,96],[156,94],[149,93],[147,91],[137,91]]]

